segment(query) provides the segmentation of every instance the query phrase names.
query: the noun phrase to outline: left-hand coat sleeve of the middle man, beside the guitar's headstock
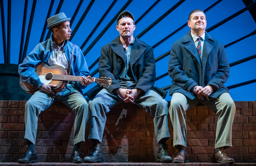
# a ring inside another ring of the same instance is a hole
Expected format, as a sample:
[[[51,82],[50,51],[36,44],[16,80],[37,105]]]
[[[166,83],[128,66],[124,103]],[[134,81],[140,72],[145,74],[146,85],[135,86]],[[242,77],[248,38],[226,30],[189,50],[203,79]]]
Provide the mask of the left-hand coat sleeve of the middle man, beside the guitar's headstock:
[[[101,49],[101,57],[99,58],[99,77],[109,77],[112,80],[112,84],[109,88],[106,88],[109,93],[113,93],[114,89],[121,88],[116,81],[114,74],[112,73],[112,66],[110,63],[110,55],[108,46],[103,46]]]

